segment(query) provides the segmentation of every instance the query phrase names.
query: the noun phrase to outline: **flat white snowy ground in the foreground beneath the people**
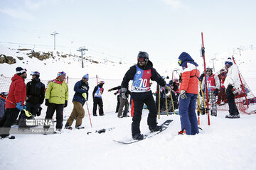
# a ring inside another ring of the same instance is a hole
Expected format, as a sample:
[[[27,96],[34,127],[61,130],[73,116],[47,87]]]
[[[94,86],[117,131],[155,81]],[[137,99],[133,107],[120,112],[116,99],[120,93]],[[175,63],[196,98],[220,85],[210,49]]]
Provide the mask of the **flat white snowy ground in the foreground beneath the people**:
[[[117,113],[84,118],[85,130],[64,130],[61,135],[16,135],[16,140],[1,140],[1,169],[255,169],[256,115],[241,115],[238,120],[201,116],[199,135],[177,135],[179,115],[161,115],[159,123],[173,119],[159,135],[131,145],[113,140],[131,136],[132,118],[117,118]],[[147,111],[141,130],[148,132]],[[115,129],[102,134],[102,128]]]

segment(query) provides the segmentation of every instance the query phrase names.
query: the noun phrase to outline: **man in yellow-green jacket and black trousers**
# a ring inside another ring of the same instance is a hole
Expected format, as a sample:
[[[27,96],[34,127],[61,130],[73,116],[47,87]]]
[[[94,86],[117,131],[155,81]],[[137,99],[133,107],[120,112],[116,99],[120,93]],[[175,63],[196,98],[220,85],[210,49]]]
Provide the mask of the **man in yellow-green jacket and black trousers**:
[[[57,78],[49,81],[46,89],[46,119],[53,118],[56,111],[56,131],[61,132],[63,127],[63,108],[68,106],[68,84],[65,83],[65,72],[58,72]],[[48,128],[45,126],[44,128]]]

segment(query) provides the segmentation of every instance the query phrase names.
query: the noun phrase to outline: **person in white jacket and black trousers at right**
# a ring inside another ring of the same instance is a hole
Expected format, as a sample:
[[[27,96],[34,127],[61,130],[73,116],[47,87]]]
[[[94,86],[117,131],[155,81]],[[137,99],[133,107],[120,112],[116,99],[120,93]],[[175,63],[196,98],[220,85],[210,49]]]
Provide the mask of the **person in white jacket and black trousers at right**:
[[[235,105],[235,95],[238,94],[238,88],[240,87],[238,66],[233,64],[231,58],[228,58],[228,60],[225,61],[225,67],[228,69],[228,74],[225,78],[224,86],[228,99],[228,111],[230,113],[226,115],[225,118],[240,118],[240,113]]]

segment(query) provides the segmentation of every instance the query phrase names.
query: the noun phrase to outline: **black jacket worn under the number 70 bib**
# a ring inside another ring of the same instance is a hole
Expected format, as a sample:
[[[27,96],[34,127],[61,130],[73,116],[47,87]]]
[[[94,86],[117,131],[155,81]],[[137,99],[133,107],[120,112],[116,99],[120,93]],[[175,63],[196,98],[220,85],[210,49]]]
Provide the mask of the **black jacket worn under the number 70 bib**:
[[[137,67],[139,67],[140,69],[146,70],[146,69],[151,69],[151,80],[152,81],[156,81],[158,84],[160,84],[160,86],[165,86],[166,85],[166,81],[164,81],[163,78],[161,78],[160,74],[158,72],[156,72],[156,69],[153,68],[153,63],[151,61],[149,61],[146,64],[146,67],[140,67],[139,63],[137,63]],[[124,88],[128,89],[128,85],[129,85],[129,81],[134,79],[134,75],[137,72],[137,68],[136,65],[133,65],[132,67],[129,68],[129,70],[126,72],[126,74],[124,74],[124,78],[122,81],[121,86]]]

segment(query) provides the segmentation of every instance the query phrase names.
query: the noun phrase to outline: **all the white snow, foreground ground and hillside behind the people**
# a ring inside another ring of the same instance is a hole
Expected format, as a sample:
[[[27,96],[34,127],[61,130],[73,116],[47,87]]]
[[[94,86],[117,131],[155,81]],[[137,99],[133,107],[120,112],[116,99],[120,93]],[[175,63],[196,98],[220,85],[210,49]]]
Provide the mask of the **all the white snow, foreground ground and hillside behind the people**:
[[[0,54],[13,54],[16,51],[0,47]],[[22,52],[21,52],[22,53]],[[256,91],[255,50],[245,50],[242,56],[235,55],[235,59],[252,91]],[[223,62],[230,55],[223,54],[216,62],[215,68],[223,67]],[[28,72],[41,72],[44,80],[54,79],[59,70],[67,72],[70,77],[70,97],[65,115],[73,109],[73,84],[83,74],[90,74],[90,94],[96,85],[95,74],[107,79],[104,85],[103,103],[105,116],[92,119],[90,127],[87,107],[83,125],[85,130],[63,130],[61,135],[16,135],[16,140],[0,140],[0,169],[256,169],[256,115],[240,115],[240,119],[225,119],[228,111],[218,111],[218,117],[210,116],[210,125],[206,115],[201,115],[199,127],[203,130],[198,135],[177,135],[180,130],[179,115],[161,115],[157,121],[163,123],[167,119],[174,120],[169,128],[159,135],[131,145],[122,145],[113,140],[122,140],[131,137],[132,118],[117,118],[114,113],[117,100],[114,92],[108,92],[118,86],[124,73],[132,64],[118,64],[104,62],[90,64],[86,62],[85,69],[80,69],[80,62],[73,61],[67,64],[60,60],[44,60],[43,62],[23,55],[28,64],[17,60],[17,64],[1,64],[0,71],[6,77],[11,77],[18,66],[26,67]],[[71,59],[70,59],[71,60]],[[134,62],[136,58],[134,57]],[[244,62],[244,63],[242,63]],[[43,64],[43,63],[46,63]],[[168,67],[168,66],[166,66]],[[163,68],[156,67],[159,73],[164,74]],[[217,70],[217,69],[216,69]],[[28,74],[29,81],[30,76]],[[154,86],[154,85],[153,85]],[[154,90],[153,90],[154,91]],[[92,97],[90,95],[89,111],[92,115]],[[43,111],[46,108],[43,106]],[[149,132],[146,125],[148,111],[143,111],[141,121],[142,133]],[[64,122],[65,124],[65,122]],[[112,128],[102,134],[95,130]],[[87,132],[92,132],[87,135]]]

